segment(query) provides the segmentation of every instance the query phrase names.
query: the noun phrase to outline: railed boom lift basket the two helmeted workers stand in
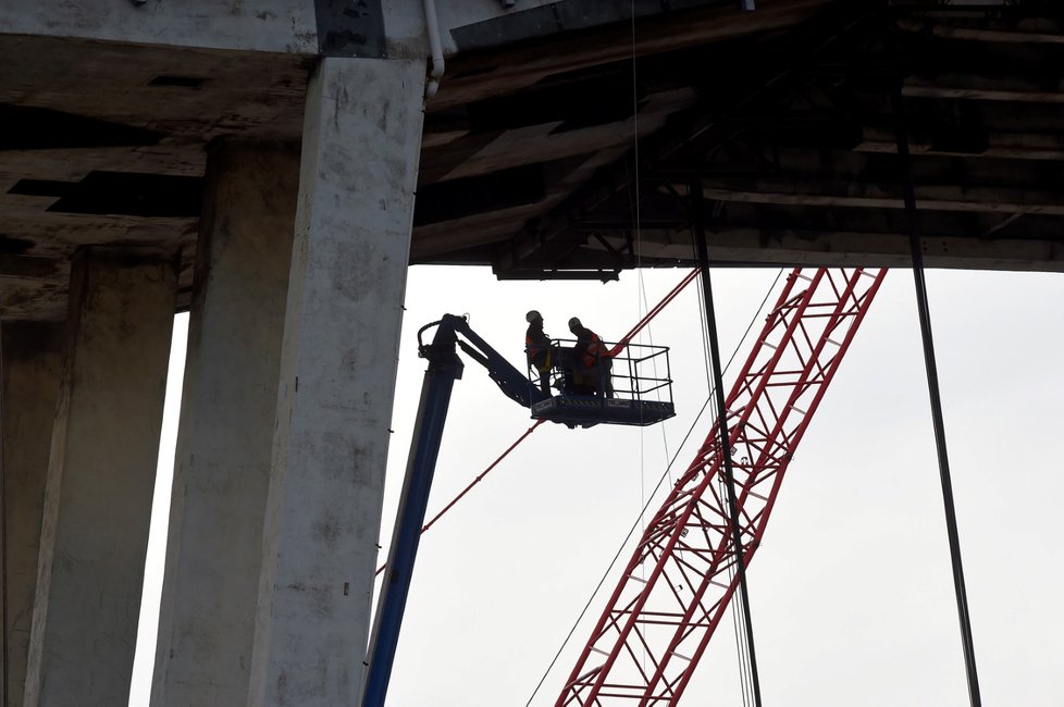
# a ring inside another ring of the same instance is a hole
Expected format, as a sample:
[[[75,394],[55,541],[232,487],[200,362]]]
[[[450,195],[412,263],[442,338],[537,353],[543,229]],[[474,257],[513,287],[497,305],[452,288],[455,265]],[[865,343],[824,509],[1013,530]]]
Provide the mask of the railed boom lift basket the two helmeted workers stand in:
[[[550,342],[552,368],[546,380],[529,365],[529,385],[547,394],[532,404],[532,418],[570,427],[593,424],[645,426],[676,415],[669,348],[628,344],[595,367],[570,364],[572,339]],[[606,343],[606,348],[614,345]],[[544,383],[547,386],[544,386]]]

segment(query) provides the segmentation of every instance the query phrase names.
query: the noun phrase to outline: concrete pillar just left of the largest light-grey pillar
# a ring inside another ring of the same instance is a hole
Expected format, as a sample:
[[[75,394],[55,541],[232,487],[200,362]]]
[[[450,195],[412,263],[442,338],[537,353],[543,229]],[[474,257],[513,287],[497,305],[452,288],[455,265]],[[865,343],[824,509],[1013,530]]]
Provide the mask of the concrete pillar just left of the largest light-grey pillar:
[[[298,149],[208,159],[151,704],[247,702]]]

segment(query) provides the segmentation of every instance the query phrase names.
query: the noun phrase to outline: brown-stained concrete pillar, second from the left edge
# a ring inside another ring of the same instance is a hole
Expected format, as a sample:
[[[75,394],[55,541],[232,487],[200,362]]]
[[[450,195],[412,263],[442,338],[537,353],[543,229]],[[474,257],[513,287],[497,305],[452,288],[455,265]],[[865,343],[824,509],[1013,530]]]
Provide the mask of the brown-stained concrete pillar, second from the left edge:
[[[74,258],[27,707],[129,699],[175,289],[172,258]]]

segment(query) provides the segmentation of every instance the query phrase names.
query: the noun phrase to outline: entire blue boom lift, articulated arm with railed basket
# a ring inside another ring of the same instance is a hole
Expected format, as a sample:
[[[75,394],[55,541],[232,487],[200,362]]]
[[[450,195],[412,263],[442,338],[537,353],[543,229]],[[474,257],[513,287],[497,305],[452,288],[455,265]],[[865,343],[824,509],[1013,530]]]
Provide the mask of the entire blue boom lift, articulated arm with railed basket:
[[[425,343],[424,334],[432,328],[432,342]],[[470,328],[465,317],[444,314],[418,331],[418,354],[429,361],[429,368],[388,550],[389,571],[381,587],[370,637],[361,707],[384,707],[450,394],[465,369],[458,349],[484,367],[499,390],[529,408],[537,420],[570,429],[596,424],[642,426],[676,414],[668,347],[626,342],[609,348],[609,344],[599,344],[594,363],[585,365],[586,345],[578,354],[577,342],[552,339],[543,373],[530,363],[528,374],[522,375]],[[559,393],[552,395],[553,389]]]

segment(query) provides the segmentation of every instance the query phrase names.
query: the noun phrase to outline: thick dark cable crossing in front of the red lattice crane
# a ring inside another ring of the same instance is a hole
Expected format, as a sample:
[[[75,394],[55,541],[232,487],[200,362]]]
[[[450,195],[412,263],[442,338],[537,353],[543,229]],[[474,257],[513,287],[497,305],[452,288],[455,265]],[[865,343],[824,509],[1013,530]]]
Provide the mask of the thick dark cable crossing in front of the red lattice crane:
[[[754,707],[762,707],[760,682],[757,678],[757,656],[754,653],[754,627],[750,618],[750,595],[746,592],[746,560],[743,557],[742,537],[739,532],[739,504],[735,500],[735,475],[731,467],[731,442],[728,434],[728,409],[725,402],[723,373],[720,368],[720,350],[717,340],[717,320],[714,315],[713,286],[709,282],[709,248],[706,245],[706,209],[702,182],[692,179],[690,186],[691,224],[698,264],[702,268],[702,289],[706,298],[706,325],[709,333],[709,358],[713,364],[714,392],[717,399],[717,430],[720,433],[720,458],[723,461],[725,481],[728,483],[728,512],[731,516],[731,543],[735,548],[735,567],[739,572],[739,594],[743,605],[743,628],[746,631],[746,650],[750,654],[750,679],[753,683]]]

